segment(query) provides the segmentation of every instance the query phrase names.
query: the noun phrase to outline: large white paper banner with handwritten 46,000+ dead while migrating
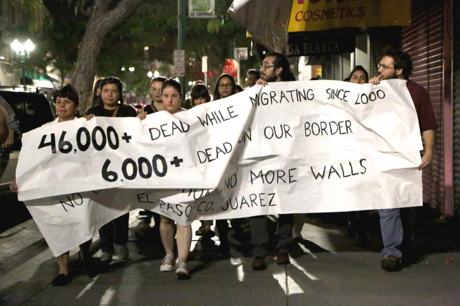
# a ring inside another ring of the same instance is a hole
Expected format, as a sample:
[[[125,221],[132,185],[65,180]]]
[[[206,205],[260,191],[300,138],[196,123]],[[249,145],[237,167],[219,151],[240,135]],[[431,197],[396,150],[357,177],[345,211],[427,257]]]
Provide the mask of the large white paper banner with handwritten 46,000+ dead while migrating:
[[[270,83],[142,122],[35,129],[23,135],[17,183],[59,255],[134,208],[189,224],[419,206],[421,148],[404,81]]]

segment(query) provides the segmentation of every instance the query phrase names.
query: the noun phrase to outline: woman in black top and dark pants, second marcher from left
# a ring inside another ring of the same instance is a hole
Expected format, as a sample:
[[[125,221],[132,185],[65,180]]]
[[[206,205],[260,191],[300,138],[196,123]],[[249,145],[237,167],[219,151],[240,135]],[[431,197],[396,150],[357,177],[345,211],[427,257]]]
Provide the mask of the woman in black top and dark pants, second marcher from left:
[[[99,104],[88,108],[85,118],[90,120],[94,116],[102,117],[136,117],[138,114],[131,106],[123,103],[123,84],[118,78],[104,78],[100,85],[101,95]],[[110,221],[99,229],[102,256],[101,261],[112,261],[115,249],[118,259],[127,260],[129,251],[128,242],[129,213]],[[115,248],[114,248],[115,244]]]

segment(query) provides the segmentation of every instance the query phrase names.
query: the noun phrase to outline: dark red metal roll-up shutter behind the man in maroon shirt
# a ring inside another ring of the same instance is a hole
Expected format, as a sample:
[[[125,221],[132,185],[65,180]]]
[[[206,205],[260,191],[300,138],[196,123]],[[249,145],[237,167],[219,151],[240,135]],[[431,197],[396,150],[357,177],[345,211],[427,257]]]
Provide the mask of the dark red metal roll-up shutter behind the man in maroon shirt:
[[[444,211],[442,3],[412,1],[411,25],[402,29],[401,47],[412,58],[409,78],[428,91],[438,126],[431,167],[423,170],[423,201]]]

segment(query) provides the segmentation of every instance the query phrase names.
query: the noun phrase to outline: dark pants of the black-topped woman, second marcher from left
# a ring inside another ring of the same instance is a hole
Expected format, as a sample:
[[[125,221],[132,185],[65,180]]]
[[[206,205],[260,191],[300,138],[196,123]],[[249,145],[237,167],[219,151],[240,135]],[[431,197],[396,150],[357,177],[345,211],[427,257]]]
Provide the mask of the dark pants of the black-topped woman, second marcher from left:
[[[114,243],[116,245],[126,245],[128,242],[128,223],[129,213],[126,213],[99,229],[101,249],[104,253],[114,253]]]

